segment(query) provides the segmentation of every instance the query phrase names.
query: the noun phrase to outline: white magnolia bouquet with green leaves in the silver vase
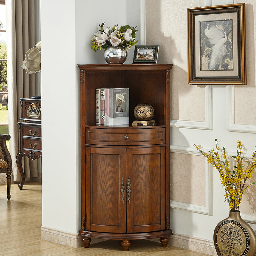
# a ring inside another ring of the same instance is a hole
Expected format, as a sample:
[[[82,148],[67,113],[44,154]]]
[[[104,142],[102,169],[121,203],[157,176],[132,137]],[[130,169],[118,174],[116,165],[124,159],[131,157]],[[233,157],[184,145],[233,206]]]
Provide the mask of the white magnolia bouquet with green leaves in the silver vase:
[[[92,38],[92,49],[95,52],[97,49],[102,50],[108,46],[124,46],[129,50],[138,42],[138,40],[135,42],[135,33],[138,31],[136,27],[115,25],[113,28],[104,28],[104,23],[99,26],[100,30]]]

